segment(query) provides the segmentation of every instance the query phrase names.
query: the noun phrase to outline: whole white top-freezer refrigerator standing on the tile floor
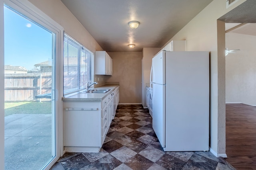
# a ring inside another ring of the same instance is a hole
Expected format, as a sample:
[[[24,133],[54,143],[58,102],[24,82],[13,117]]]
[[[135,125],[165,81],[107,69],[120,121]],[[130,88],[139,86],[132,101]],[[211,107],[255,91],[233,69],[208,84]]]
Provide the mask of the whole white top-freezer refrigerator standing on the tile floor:
[[[150,86],[153,129],[164,151],[209,150],[209,53],[160,51]]]

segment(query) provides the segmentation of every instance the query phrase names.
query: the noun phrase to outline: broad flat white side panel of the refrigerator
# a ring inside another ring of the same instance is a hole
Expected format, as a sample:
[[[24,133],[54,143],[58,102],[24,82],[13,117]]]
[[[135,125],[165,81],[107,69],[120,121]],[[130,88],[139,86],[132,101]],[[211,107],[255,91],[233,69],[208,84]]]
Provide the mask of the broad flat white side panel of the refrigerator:
[[[208,149],[209,53],[166,52],[165,151]]]

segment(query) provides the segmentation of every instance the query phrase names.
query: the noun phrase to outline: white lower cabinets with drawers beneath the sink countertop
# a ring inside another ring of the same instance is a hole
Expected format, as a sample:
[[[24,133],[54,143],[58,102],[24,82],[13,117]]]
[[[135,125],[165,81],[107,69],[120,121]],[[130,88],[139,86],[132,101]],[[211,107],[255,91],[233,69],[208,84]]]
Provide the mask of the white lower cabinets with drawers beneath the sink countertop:
[[[102,101],[63,102],[66,152],[100,151],[116,113],[112,94],[108,94]]]

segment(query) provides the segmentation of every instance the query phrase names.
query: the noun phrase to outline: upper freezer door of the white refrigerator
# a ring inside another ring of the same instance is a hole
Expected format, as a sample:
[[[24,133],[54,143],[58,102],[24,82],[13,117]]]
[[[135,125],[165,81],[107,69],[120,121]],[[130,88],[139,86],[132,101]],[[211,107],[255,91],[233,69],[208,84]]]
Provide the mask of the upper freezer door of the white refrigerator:
[[[165,84],[165,51],[161,51],[152,59],[151,82]]]

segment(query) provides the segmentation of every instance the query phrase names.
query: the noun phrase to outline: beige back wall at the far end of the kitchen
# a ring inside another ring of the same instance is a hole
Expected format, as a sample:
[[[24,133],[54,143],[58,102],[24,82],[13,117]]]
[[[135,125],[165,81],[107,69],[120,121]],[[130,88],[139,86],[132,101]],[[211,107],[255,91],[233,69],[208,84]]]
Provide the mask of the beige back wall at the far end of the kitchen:
[[[113,62],[113,75],[106,82],[119,82],[119,103],[141,103],[141,52],[108,52]]]

